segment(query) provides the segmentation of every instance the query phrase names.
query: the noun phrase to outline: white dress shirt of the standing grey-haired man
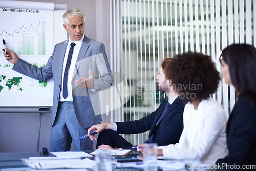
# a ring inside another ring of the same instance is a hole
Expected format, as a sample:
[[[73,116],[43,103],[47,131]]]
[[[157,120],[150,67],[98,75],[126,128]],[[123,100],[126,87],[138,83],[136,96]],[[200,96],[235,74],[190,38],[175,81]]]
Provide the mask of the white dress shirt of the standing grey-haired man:
[[[66,49],[65,57],[64,57],[64,60],[63,60],[63,66],[62,66],[61,90],[60,90],[59,101],[73,101],[71,82],[72,82],[72,76],[73,76],[73,73],[74,73],[74,70],[75,70],[75,66],[76,66],[76,60],[77,60],[77,57],[78,57],[78,53],[79,53],[81,45],[82,45],[83,37],[84,37],[84,35],[78,41],[72,41],[69,38],[69,42],[68,42],[68,46],[67,46],[67,49]],[[74,46],[73,55],[72,55],[72,59],[71,59],[71,63],[70,63],[70,68],[69,68],[69,75],[68,75],[68,97],[65,99],[62,96],[63,77],[64,77],[65,68],[66,68],[66,65],[67,65],[67,60],[68,60],[68,55],[69,55],[69,50],[70,50],[70,44],[72,42],[74,42],[76,44],[76,46]]]

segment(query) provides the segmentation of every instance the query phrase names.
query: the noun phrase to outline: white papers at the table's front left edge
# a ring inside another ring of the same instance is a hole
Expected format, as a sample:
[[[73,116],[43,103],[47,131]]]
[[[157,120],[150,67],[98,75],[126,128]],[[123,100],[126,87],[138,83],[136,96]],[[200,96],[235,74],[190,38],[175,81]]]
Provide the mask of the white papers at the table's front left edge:
[[[57,157],[56,157],[57,158]],[[20,159],[30,168],[34,169],[57,169],[57,168],[94,168],[96,163],[91,159],[52,159],[30,160]]]

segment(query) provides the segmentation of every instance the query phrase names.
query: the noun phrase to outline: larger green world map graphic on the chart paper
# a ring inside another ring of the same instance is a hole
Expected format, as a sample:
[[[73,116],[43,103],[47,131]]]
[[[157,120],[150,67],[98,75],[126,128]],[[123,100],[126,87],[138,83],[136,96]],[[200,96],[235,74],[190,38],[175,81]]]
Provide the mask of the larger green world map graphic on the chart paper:
[[[8,90],[11,90],[13,86],[16,86],[19,91],[23,91],[23,89],[20,87],[20,81],[22,81],[22,77],[7,78],[5,75],[1,75],[0,83],[2,83],[3,81],[6,81],[5,86],[8,88]],[[4,88],[4,86],[0,85],[0,92],[2,92]]]

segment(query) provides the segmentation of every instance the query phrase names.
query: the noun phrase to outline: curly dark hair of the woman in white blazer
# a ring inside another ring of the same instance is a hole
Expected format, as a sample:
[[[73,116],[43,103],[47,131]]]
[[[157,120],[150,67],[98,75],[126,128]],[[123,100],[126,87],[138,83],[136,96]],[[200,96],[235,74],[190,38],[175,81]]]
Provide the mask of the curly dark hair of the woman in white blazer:
[[[166,77],[172,79],[184,104],[207,99],[218,90],[220,73],[211,56],[189,51],[176,55],[167,67]]]

